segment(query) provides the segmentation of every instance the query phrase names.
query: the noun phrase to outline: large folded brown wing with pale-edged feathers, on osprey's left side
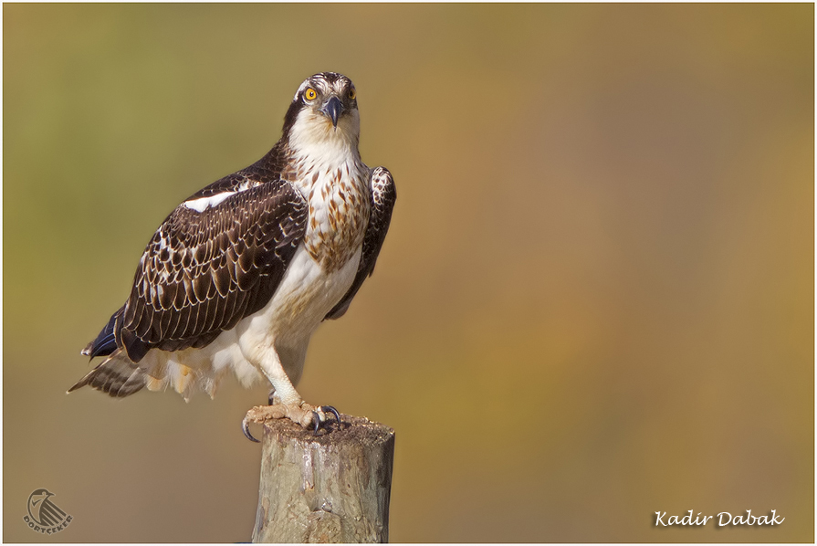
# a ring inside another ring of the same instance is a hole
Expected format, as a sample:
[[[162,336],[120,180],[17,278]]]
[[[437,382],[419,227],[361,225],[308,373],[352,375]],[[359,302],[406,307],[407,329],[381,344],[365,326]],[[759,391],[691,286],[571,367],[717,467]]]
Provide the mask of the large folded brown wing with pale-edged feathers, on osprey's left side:
[[[199,192],[185,203],[198,199],[201,212],[178,206],[152,237],[131,297],[111,317],[116,345],[131,361],[154,347],[204,347],[272,297],[306,231],[308,206],[280,179],[201,203],[200,195],[237,188]]]

